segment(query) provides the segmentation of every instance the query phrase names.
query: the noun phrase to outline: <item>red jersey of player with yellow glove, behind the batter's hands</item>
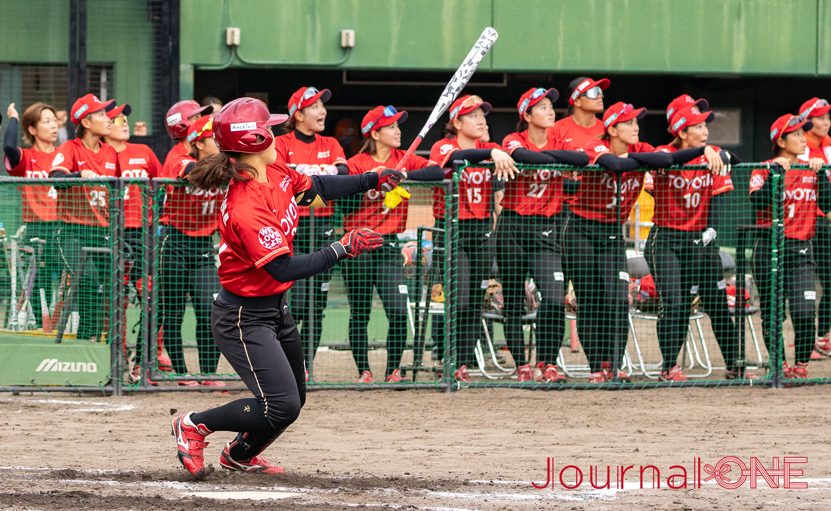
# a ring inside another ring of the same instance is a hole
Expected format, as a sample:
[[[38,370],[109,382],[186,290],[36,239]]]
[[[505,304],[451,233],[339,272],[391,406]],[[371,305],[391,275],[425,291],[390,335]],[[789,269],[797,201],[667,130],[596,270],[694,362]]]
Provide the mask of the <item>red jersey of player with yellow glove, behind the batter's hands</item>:
[[[390,158],[384,163],[376,162],[372,159],[370,153],[358,153],[347,160],[349,173],[353,175],[366,173],[378,168],[396,168],[396,165],[401,161],[405,153],[406,151],[393,148],[390,152]],[[416,168],[425,168],[428,165],[435,165],[435,162],[413,154],[401,170],[406,172]],[[343,217],[343,228],[351,231],[352,229],[366,227],[372,231],[376,231],[378,234],[397,234],[404,232],[407,226],[408,199],[402,198],[398,206],[390,209],[384,205],[385,197],[385,192],[377,192],[376,190],[365,192],[361,200],[361,206],[354,212]]]

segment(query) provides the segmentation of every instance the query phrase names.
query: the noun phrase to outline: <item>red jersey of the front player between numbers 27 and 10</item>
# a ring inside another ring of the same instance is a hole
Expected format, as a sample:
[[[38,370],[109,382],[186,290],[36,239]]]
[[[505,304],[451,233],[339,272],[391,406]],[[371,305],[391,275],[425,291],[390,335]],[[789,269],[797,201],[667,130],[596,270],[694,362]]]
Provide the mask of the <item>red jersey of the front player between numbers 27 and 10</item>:
[[[652,153],[656,151],[646,142],[638,142],[629,146],[629,153]],[[597,158],[610,153],[606,140],[593,140],[586,144],[586,153],[590,163],[597,163]],[[642,171],[623,173],[621,177],[621,221],[629,216],[637,196],[641,194],[644,181]],[[589,220],[610,223],[615,221],[617,211],[617,177],[613,172],[590,170],[583,173],[578,192],[571,201],[571,209],[575,215]]]

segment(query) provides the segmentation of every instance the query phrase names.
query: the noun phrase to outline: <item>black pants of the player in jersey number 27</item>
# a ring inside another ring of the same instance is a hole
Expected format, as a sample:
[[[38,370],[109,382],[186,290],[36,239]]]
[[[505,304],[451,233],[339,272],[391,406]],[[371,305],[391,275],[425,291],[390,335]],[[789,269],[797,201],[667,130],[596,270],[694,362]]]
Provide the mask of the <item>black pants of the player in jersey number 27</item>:
[[[525,365],[525,276],[541,294],[537,309],[537,362],[556,363],[565,333],[565,278],[554,217],[522,216],[505,210],[496,234],[496,261],[502,278],[505,341],[518,366]]]

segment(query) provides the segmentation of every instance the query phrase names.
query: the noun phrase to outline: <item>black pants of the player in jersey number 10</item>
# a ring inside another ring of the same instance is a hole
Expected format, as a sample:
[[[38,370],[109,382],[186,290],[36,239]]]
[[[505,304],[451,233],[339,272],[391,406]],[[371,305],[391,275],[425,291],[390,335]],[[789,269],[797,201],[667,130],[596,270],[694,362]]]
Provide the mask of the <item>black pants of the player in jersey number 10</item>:
[[[680,231],[653,226],[644,251],[655,287],[661,297],[658,345],[668,371],[676,365],[690,325],[690,309],[701,295],[713,333],[728,369],[739,357],[739,337],[730,318],[724,270],[718,246],[701,246],[701,231]]]

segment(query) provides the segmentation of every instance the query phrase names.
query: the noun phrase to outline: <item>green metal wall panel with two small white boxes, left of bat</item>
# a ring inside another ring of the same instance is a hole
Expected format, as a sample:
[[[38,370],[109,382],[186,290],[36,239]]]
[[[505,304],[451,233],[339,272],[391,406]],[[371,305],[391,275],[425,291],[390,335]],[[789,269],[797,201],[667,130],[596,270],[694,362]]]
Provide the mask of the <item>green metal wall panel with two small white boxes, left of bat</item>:
[[[341,59],[340,32],[352,29],[343,67],[455,69],[490,10],[490,0],[182,0],[181,61],[223,64],[225,28],[239,27],[246,61],[325,66]]]

